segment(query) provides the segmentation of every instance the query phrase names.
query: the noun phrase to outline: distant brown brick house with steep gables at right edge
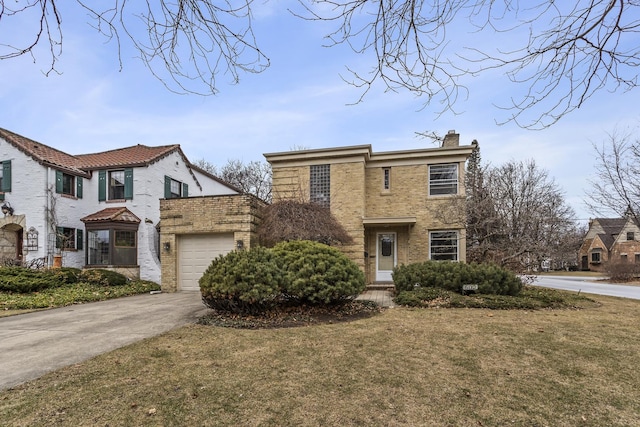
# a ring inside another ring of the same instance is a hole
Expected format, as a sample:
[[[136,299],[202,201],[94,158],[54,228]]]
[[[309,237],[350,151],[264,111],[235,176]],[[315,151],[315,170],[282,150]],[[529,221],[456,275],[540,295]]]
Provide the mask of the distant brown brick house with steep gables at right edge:
[[[640,227],[632,218],[595,218],[578,257],[582,270],[603,271],[609,261],[640,264]]]

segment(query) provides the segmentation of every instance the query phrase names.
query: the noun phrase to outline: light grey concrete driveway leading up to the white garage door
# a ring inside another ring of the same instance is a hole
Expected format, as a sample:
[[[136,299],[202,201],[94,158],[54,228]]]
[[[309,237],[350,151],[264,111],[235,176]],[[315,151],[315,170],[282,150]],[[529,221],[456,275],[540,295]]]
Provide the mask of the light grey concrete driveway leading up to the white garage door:
[[[195,322],[200,292],[145,294],[0,318],[0,390]]]

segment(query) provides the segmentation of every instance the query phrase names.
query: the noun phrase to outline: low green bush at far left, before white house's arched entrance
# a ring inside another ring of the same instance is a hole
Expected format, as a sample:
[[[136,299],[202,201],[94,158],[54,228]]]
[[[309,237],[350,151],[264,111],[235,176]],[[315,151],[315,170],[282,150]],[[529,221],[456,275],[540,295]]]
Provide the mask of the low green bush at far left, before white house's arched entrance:
[[[0,292],[37,292],[47,288],[57,288],[65,283],[67,283],[67,276],[60,270],[0,267]]]

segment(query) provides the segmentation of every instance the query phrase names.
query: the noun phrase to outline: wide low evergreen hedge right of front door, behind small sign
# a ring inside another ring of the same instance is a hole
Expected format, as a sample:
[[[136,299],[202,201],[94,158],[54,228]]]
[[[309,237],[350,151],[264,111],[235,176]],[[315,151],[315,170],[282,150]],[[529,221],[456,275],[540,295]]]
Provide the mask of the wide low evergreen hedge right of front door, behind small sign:
[[[400,265],[393,270],[398,292],[417,287],[442,288],[462,293],[463,285],[478,285],[480,294],[517,295],[522,281],[512,272],[494,264],[426,261]]]

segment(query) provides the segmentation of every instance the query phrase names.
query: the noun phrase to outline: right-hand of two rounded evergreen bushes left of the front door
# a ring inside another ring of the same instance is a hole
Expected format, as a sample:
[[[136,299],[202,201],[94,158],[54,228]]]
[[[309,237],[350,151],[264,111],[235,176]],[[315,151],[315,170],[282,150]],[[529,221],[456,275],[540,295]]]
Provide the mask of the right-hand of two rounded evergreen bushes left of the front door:
[[[295,240],[277,244],[273,252],[284,271],[285,294],[301,303],[340,303],[365,288],[362,271],[338,249]]]

